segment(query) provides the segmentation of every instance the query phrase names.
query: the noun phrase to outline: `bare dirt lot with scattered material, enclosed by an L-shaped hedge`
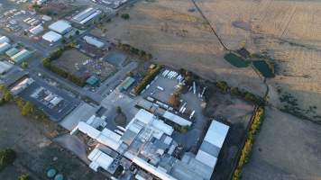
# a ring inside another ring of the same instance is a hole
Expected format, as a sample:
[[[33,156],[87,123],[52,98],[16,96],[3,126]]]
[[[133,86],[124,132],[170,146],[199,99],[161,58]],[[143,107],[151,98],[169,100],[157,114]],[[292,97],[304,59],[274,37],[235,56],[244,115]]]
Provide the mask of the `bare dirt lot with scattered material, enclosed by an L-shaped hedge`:
[[[105,60],[89,58],[77,49],[66,50],[60,58],[52,62],[84,80],[89,76],[96,75],[101,81],[104,81],[115,72],[115,67]]]

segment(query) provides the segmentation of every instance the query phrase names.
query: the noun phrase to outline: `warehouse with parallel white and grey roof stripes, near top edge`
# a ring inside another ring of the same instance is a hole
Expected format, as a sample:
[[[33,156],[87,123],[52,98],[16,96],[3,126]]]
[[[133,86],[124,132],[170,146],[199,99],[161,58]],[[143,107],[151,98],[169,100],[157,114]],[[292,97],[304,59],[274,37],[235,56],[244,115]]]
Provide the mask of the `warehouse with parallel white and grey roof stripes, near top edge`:
[[[97,17],[99,17],[101,13],[102,12],[100,10],[95,9],[93,7],[89,7],[86,10],[80,12],[79,14],[73,16],[71,21],[73,21],[74,23],[85,25],[95,20]]]

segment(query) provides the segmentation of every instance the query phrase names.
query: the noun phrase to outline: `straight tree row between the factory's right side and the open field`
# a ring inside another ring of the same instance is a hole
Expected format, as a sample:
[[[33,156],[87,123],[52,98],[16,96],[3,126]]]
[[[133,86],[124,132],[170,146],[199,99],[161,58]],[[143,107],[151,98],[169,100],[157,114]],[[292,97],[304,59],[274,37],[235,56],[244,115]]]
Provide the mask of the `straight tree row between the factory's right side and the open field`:
[[[264,110],[263,106],[258,107],[254,111],[254,114],[252,116],[252,124],[251,124],[250,130],[247,134],[245,144],[244,144],[242,152],[241,152],[241,157],[240,157],[239,162],[238,162],[236,169],[234,171],[233,180],[241,179],[243,166],[249,160],[255,136],[258,133],[258,131],[260,130],[261,123],[264,120],[264,111],[265,110]]]

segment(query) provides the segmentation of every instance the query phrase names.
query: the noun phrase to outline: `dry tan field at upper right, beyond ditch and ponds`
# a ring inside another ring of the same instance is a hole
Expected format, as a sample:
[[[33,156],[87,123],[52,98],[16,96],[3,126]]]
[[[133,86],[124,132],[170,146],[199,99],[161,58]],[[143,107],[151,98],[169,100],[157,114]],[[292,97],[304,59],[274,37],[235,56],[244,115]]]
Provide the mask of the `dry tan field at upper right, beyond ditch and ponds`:
[[[321,23],[317,18],[321,2],[200,0],[197,4],[229,49],[245,46],[273,58],[278,76],[268,83],[293,94],[302,112],[316,105],[316,113],[307,116],[321,121],[317,117],[321,114]]]

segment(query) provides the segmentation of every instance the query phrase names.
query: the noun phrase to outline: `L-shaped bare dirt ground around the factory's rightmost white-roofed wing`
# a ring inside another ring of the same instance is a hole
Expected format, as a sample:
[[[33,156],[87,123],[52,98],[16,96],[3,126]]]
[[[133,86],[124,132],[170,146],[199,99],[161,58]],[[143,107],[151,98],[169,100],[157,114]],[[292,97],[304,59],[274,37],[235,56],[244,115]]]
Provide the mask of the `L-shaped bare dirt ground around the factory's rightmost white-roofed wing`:
[[[233,171],[236,155],[242,149],[245,131],[252,116],[254,106],[229,94],[221,94],[210,88],[211,98],[206,105],[206,116],[225,121],[230,130],[221,149],[212,179],[225,180]]]

